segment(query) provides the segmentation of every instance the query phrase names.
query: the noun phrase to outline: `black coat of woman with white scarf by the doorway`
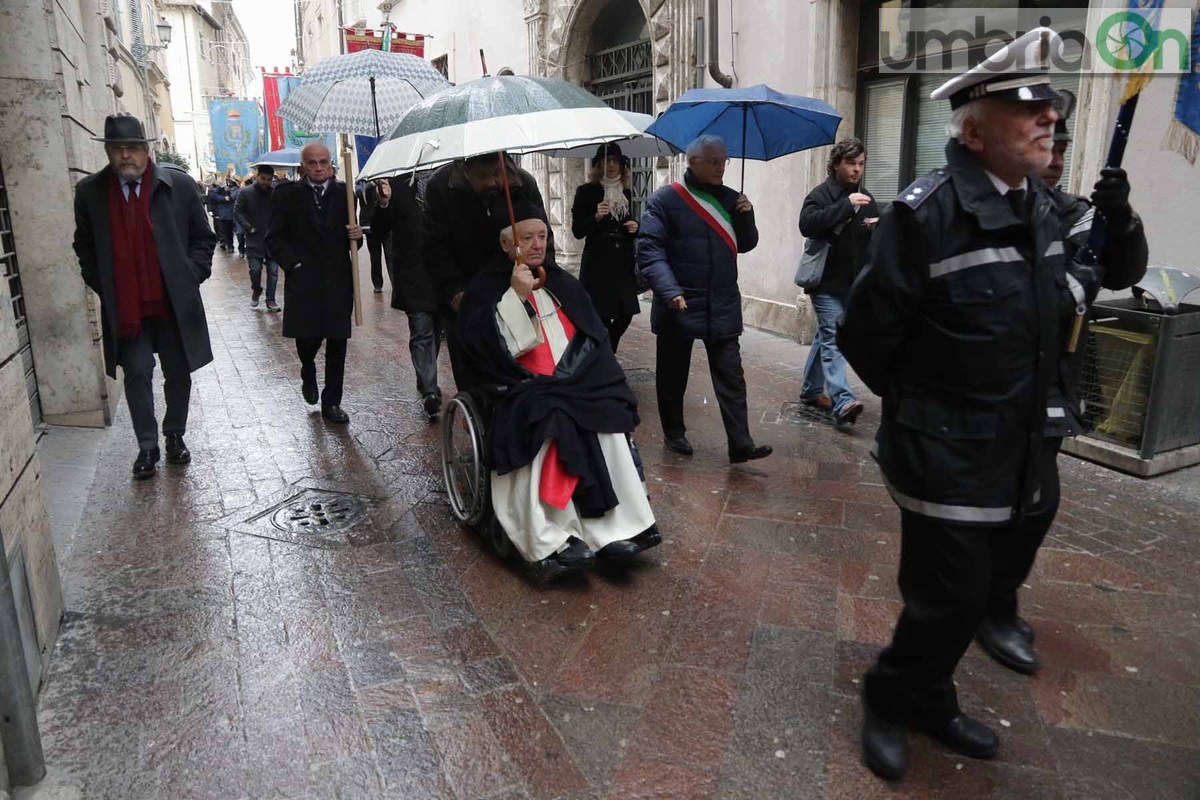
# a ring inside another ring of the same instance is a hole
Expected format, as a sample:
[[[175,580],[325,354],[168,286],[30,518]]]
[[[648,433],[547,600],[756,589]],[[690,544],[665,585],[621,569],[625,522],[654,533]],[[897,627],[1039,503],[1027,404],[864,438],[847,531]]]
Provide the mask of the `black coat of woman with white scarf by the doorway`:
[[[632,205],[634,196],[625,190]],[[634,279],[634,239],[625,230],[625,222],[608,215],[596,222],[596,206],[604,201],[600,184],[584,184],[575,191],[571,204],[571,233],[583,239],[580,260],[580,283],[588,290],[602,319],[632,317],[641,312],[637,305],[637,283]]]

